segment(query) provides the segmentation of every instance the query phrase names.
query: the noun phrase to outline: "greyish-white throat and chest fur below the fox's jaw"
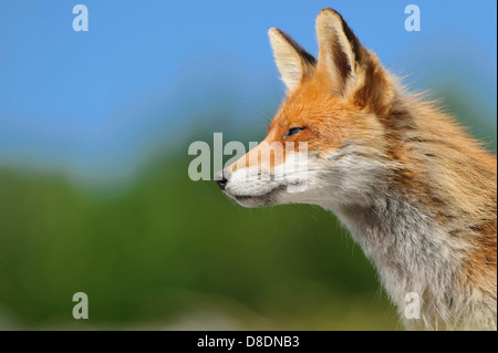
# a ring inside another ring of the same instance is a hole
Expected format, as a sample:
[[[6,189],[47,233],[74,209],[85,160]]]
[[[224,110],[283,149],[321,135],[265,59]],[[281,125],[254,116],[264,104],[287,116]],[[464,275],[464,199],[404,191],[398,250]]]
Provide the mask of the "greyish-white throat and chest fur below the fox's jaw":
[[[496,328],[496,301],[476,291],[474,302],[468,298],[473,289],[460,284],[468,245],[438,229],[406,197],[393,195],[372,207],[351,206],[335,212],[374,262],[401,318],[412,302],[406,295],[419,297],[421,318],[405,319],[408,329]],[[468,315],[475,318],[469,321]]]

